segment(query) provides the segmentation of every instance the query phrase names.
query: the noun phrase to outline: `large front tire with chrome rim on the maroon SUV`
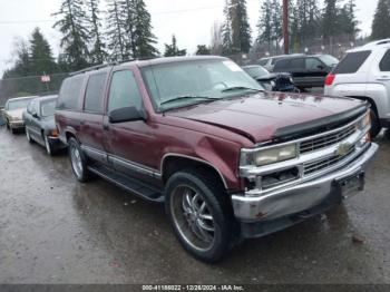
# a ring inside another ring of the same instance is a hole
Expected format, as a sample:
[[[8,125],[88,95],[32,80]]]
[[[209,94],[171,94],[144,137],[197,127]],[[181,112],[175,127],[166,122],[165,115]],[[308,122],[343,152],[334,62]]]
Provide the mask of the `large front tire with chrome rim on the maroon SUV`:
[[[196,259],[216,262],[233,245],[233,210],[223,185],[209,175],[192,169],[174,174],[166,184],[165,210],[176,237]]]

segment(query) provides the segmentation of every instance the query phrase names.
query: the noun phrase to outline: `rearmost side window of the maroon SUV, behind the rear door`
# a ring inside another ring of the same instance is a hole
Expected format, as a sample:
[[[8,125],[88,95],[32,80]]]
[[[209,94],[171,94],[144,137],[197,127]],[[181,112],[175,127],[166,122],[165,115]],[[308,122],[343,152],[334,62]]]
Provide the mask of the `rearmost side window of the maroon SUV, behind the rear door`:
[[[59,109],[77,109],[81,93],[84,75],[75,76],[62,82],[58,98]]]

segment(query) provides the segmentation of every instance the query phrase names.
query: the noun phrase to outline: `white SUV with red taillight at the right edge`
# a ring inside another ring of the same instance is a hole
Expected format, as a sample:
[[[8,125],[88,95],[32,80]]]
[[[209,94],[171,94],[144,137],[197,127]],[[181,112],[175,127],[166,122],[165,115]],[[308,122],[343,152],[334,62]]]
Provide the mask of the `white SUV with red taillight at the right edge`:
[[[368,100],[372,137],[390,127],[390,39],[349,50],[328,75],[324,93]]]

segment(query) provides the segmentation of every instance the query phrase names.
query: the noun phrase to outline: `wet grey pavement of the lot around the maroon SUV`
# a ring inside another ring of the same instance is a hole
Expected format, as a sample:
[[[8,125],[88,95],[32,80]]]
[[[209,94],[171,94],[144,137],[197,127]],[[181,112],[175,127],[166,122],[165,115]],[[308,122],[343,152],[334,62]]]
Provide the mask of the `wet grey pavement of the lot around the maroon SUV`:
[[[96,178],[77,183],[23,134],[0,128],[0,283],[390,283],[390,137],[367,188],[323,216],[191,257],[162,205]]]

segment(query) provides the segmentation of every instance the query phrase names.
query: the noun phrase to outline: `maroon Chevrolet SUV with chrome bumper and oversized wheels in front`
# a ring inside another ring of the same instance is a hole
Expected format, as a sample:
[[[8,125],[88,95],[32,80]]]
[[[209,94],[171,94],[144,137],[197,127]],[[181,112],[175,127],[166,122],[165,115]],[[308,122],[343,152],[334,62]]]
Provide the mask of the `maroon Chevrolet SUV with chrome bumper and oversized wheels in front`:
[[[362,191],[378,149],[367,103],[266,93],[222,57],[75,72],[56,124],[78,181],[164,202],[182,245],[208,262]]]

